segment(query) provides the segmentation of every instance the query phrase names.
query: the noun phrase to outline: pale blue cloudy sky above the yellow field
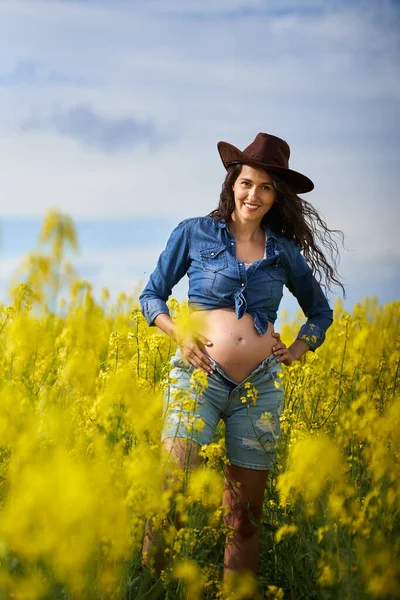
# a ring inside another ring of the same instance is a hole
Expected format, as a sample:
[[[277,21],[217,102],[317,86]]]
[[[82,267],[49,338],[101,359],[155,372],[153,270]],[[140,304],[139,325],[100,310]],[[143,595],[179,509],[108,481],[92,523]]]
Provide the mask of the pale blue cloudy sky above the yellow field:
[[[398,298],[399,26],[389,0],[3,0],[0,301],[50,208],[96,290],[137,290],[217,204],[217,142],[259,131],[344,231],[347,306]]]

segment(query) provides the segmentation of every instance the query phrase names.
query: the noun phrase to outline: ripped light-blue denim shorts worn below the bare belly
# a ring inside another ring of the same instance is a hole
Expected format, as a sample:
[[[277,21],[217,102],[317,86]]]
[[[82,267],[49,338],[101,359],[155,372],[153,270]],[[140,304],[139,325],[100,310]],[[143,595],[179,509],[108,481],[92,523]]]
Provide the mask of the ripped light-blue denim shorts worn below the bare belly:
[[[179,437],[200,445],[210,444],[219,420],[223,419],[230,463],[270,470],[275,462],[279,415],[284,407],[283,386],[276,385],[282,365],[276,361],[277,357],[271,354],[246,379],[236,383],[211,360],[214,373],[206,375],[208,385],[199,392],[191,383],[195,369],[185,364],[178,349],[171,360],[164,395],[162,439]]]

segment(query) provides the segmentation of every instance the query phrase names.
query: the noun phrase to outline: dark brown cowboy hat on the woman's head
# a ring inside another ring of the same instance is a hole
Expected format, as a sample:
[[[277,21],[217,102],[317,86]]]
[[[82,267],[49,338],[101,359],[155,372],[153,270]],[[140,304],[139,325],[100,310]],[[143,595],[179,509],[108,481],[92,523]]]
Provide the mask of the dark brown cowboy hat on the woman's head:
[[[258,133],[254,142],[247,146],[243,152],[227,142],[218,142],[217,148],[225,169],[237,163],[262,167],[267,171],[280,175],[297,194],[311,192],[314,189],[311,179],[288,168],[289,144],[275,135]]]

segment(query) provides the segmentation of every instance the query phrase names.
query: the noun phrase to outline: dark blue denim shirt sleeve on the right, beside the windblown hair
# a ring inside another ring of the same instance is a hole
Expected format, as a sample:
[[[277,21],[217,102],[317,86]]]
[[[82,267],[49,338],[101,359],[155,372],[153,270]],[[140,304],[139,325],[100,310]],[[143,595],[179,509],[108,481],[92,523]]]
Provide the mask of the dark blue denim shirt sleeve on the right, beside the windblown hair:
[[[326,331],[333,322],[333,311],[298,248],[293,250],[292,259],[288,288],[307,317],[296,339],[305,342],[314,351],[325,340]]]

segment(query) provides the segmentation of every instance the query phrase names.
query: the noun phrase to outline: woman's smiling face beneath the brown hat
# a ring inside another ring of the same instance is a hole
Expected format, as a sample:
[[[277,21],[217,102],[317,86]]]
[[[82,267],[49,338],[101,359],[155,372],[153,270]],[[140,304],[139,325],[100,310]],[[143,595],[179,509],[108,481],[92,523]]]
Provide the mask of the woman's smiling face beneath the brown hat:
[[[243,165],[232,189],[235,197],[232,217],[242,222],[261,223],[277,198],[273,178],[264,169],[249,165]]]

